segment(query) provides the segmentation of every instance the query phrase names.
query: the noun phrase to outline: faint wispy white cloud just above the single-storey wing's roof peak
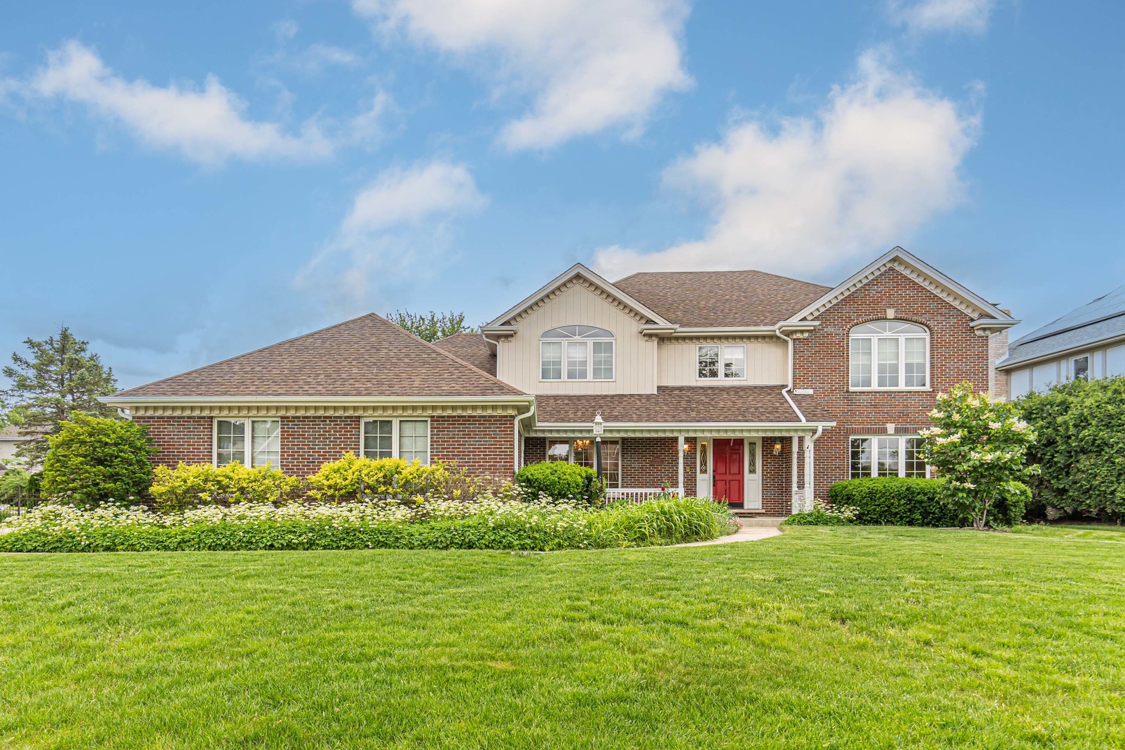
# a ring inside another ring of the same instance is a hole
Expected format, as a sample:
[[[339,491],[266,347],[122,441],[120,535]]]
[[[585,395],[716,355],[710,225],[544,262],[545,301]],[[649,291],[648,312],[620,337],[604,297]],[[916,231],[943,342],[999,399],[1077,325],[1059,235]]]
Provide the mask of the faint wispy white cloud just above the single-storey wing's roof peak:
[[[424,278],[449,249],[448,222],[487,199],[464,164],[433,161],[382,172],[352,201],[294,287],[336,314],[359,311],[380,282]]]

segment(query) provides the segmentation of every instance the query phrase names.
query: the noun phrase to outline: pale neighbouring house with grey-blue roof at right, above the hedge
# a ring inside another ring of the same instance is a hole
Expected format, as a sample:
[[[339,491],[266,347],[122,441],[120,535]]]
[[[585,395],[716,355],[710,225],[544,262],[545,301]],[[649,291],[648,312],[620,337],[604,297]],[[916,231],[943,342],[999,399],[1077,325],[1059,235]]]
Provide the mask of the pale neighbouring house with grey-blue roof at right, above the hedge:
[[[1125,287],[1020,336],[997,370],[1014,399],[1074,378],[1125,376]]]

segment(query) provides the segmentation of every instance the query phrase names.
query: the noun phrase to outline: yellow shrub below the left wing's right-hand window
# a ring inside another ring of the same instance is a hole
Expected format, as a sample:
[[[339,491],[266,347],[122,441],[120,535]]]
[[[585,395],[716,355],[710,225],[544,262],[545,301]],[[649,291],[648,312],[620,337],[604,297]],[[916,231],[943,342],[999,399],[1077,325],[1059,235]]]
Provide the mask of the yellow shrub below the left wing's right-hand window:
[[[424,466],[403,459],[369,459],[344,453],[308,478],[308,496],[315,500],[343,503],[370,497],[432,497],[443,495],[450,479],[441,463]]]

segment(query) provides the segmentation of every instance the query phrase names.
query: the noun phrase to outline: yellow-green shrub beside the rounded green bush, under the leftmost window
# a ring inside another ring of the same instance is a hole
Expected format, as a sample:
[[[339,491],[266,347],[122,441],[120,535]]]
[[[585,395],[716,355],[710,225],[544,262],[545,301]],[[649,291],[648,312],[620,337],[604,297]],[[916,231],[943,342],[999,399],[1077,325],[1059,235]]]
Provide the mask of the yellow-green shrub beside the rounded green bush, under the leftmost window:
[[[148,491],[158,510],[183,510],[224,503],[286,501],[294,499],[302,486],[297,477],[269,466],[180,463],[174,469],[156,467]]]

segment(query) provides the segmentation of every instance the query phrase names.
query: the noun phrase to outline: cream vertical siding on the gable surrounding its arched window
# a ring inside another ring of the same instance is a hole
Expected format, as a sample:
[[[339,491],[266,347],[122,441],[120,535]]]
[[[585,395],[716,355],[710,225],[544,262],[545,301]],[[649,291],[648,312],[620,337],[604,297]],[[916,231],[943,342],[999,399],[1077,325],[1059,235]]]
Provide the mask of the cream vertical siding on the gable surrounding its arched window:
[[[642,336],[640,320],[580,284],[520,318],[519,332],[496,347],[496,377],[528,394],[655,394],[656,341]],[[565,325],[613,332],[613,380],[540,380],[539,337]]]

